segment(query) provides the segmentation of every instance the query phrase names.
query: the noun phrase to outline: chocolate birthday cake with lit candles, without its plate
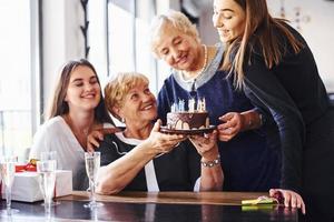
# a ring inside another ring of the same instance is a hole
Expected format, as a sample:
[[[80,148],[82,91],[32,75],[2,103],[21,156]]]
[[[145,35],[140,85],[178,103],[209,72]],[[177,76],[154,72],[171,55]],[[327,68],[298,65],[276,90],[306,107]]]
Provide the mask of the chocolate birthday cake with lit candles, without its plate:
[[[185,110],[185,101],[180,100],[170,108],[167,113],[167,128],[169,130],[200,130],[209,127],[208,112],[206,111],[205,99],[188,101],[188,110]]]

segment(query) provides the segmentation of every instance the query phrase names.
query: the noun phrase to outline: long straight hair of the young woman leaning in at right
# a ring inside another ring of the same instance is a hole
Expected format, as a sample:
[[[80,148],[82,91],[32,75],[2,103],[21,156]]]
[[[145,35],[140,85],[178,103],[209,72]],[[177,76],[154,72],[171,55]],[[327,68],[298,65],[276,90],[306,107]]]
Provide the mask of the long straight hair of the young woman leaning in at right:
[[[286,49],[279,42],[275,30],[279,30],[291,44],[294,53],[298,53],[303,43],[288,30],[286,20],[273,18],[267,9],[266,0],[234,0],[246,13],[245,31],[243,37],[228,42],[224,56],[223,70],[235,73],[234,83],[238,89],[244,85],[244,64],[250,62],[250,54],[255,43],[259,43],[265,64],[268,69],[277,65]],[[253,39],[252,39],[253,38]],[[250,42],[250,39],[253,42]],[[230,61],[230,54],[235,54]]]

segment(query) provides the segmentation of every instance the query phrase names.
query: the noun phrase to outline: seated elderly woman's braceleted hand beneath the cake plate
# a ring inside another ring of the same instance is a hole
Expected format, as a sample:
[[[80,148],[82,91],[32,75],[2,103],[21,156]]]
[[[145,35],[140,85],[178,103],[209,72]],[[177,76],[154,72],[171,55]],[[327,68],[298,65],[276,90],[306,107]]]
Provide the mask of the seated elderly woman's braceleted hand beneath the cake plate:
[[[206,160],[215,160],[218,152],[217,147],[217,131],[214,130],[209,134],[203,135],[191,135],[189,140],[196,148],[197,152]]]

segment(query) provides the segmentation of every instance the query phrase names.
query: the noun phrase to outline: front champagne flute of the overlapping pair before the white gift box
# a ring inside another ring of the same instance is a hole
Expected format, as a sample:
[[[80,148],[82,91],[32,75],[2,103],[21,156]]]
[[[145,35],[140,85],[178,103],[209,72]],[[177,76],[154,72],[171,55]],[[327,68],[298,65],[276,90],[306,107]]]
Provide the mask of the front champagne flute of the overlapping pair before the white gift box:
[[[51,214],[51,201],[56,184],[56,160],[38,161],[37,172],[39,173],[39,185],[45,199],[45,211]]]

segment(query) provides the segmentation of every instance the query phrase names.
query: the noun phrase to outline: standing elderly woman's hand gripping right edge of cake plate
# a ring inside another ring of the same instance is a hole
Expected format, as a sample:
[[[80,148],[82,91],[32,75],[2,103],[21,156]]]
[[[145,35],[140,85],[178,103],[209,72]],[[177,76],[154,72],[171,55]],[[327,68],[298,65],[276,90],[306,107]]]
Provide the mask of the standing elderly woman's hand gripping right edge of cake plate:
[[[228,112],[219,120],[223,122],[217,127],[220,141],[229,141],[242,131],[244,125],[244,117],[238,112]]]

